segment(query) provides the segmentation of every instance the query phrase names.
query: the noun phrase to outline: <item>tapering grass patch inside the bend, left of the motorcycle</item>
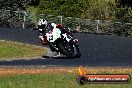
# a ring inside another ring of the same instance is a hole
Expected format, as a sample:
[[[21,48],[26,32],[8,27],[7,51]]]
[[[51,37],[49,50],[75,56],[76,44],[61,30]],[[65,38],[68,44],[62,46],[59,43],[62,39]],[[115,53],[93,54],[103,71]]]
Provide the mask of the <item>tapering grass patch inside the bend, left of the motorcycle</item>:
[[[0,41],[0,60],[7,58],[35,57],[46,54],[46,49],[35,45],[28,45],[9,41]]]

